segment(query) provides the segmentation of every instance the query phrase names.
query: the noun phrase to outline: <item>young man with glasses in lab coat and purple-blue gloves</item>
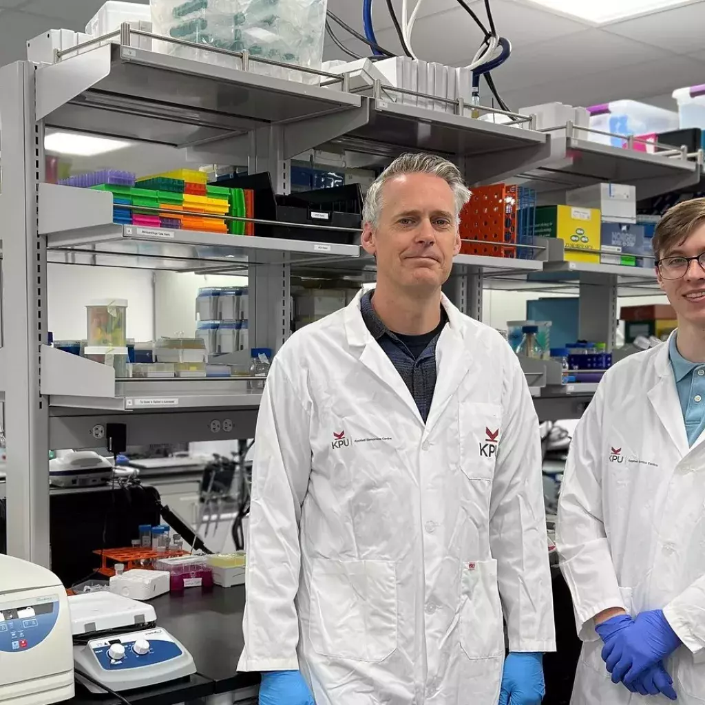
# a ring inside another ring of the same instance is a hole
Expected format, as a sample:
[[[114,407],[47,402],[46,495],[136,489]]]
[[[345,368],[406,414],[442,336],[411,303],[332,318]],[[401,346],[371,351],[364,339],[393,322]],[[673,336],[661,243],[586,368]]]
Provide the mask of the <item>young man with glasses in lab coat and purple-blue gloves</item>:
[[[605,374],[558,505],[572,705],[705,702],[705,198],[663,216],[654,254],[678,331]]]

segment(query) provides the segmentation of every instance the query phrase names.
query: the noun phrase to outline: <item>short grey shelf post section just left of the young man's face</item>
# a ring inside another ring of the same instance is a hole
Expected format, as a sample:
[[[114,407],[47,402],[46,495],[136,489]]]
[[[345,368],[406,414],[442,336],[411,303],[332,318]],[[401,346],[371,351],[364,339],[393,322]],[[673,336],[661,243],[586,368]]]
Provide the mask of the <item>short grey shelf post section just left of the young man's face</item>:
[[[580,274],[580,338],[607,343],[611,350],[617,332],[617,277],[605,274]]]

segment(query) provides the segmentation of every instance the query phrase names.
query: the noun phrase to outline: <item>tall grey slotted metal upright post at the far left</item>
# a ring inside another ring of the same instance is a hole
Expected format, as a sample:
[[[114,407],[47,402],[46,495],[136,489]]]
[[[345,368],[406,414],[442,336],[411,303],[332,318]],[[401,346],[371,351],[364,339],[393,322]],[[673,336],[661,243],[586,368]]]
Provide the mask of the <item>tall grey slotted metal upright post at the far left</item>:
[[[35,68],[0,68],[3,311],[6,375],[8,553],[49,566],[49,410],[39,393],[47,342],[47,241],[37,234],[44,130],[35,122]],[[4,298],[7,300],[7,297]]]

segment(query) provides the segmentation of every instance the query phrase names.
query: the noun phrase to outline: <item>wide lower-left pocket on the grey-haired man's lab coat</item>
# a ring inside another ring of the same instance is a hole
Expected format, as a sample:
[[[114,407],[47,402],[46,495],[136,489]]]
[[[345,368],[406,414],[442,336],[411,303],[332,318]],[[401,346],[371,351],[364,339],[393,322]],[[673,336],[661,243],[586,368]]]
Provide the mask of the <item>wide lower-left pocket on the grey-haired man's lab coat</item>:
[[[314,560],[309,637],[317,654],[377,663],[397,646],[396,567]]]

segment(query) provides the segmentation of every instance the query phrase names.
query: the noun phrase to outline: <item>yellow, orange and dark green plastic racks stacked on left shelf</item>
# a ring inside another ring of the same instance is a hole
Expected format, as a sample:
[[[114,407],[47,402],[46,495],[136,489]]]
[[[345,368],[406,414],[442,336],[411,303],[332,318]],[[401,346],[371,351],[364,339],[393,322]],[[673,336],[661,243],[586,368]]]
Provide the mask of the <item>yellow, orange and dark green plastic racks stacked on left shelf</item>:
[[[231,212],[231,189],[210,186],[207,180],[204,171],[178,169],[140,178],[137,184],[157,194],[157,207],[165,209],[159,215],[178,221],[177,228],[227,233],[226,221],[213,216],[226,216]]]

